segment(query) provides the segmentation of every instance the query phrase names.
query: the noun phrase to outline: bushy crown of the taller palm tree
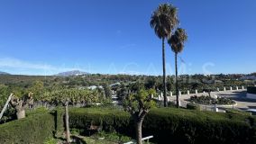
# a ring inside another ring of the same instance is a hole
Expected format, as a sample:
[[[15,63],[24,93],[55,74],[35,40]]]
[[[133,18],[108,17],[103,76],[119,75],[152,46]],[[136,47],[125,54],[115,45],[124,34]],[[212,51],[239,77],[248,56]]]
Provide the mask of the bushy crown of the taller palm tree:
[[[177,8],[172,4],[160,4],[151,15],[151,27],[160,39],[167,38],[177,24]]]

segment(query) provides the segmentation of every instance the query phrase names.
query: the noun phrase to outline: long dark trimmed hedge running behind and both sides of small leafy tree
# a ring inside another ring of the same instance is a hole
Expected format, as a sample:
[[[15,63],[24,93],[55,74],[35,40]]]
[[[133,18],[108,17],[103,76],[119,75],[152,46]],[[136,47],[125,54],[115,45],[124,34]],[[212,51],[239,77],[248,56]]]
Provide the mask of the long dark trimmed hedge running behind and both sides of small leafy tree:
[[[71,128],[87,130],[90,124],[134,137],[129,113],[110,109],[74,108],[69,111]],[[253,143],[255,118],[247,115],[160,108],[151,110],[142,126],[143,136],[157,143]]]

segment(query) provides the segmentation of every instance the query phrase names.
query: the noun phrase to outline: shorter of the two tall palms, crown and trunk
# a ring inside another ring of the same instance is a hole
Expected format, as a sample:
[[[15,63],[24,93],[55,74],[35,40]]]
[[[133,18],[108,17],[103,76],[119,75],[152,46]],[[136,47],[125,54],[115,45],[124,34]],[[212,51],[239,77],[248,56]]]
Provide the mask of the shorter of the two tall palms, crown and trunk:
[[[174,34],[168,40],[169,46],[171,50],[175,53],[175,78],[176,78],[176,100],[177,107],[178,104],[178,67],[177,67],[177,56],[178,53],[182,52],[184,49],[184,43],[187,41],[187,33],[184,29],[178,28]]]

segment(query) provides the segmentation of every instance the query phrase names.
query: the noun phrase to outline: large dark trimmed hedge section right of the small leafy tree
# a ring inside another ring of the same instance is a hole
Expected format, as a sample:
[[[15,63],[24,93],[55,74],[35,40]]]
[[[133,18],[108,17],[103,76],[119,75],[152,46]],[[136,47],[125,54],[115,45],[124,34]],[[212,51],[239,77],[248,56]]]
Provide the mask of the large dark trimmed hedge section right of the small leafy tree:
[[[151,111],[143,122],[143,133],[154,141],[179,143],[253,143],[251,117],[182,109]]]

